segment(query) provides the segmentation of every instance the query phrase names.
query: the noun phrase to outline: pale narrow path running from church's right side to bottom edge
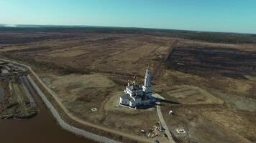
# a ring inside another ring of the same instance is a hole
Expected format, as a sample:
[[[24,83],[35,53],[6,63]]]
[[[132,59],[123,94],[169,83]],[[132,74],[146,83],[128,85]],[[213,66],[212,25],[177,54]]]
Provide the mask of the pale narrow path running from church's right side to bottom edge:
[[[159,94],[153,94],[153,96],[158,99],[164,99]],[[169,130],[167,124],[165,123],[165,119],[163,119],[163,114],[162,114],[161,108],[160,108],[160,102],[157,102],[157,114],[158,114],[158,117],[160,119],[162,126],[165,128],[165,134],[167,134],[170,143],[175,143],[175,141],[173,140],[172,134],[170,134],[170,130]]]

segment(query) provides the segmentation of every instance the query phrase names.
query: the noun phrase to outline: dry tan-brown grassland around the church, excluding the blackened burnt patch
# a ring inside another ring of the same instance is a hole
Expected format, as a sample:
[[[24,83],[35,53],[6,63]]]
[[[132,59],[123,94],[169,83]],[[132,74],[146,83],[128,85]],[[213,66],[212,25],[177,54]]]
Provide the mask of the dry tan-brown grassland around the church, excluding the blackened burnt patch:
[[[142,81],[145,68],[150,64],[152,75],[158,68],[163,69],[160,78],[153,81],[153,91],[171,102],[182,103],[165,103],[162,107],[172,131],[178,126],[186,127],[188,131],[185,138],[172,132],[175,139],[182,142],[255,142],[255,76],[245,75],[244,79],[239,79],[207,68],[199,69],[200,66],[212,66],[211,63],[200,63],[206,58],[221,59],[225,63],[230,56],[198,57],[200,50],[193,56],[189,52],[185,56],[172,53],[180,57],[175,59],[177,62],[183,59],[188,65],[183,71],[171,68],[168,63],[161,62],[174,40],[178,40],[175,48],[239,49],[242,54],[255,51],[255,44],[221,44],[148,34],[81,34],[65,39],[4,45],[0,52],[37,67],[44,82],[58,93],[76,116],[131,134],[140,134],[140,129],[148,129],[158,120],[155,109],[134,111],[116,107],[127,79],[137,74]],[[240,61],[243,60],[247,59]],[[230,61],[227,61],[229,66]],[[43,64],[39,64],[41,62]],[[50,64],[49,69],[45,63]],[[190,63],[196,64],[198,69],[192,72]],[[76,69],[73,70],[75,73],[58,73],[60,69],[71,67]],[[253,68],[247,71],[254,71]],[[91,73],[78,74],[84,69]],[[91,112],[94,107],[99,109],[98,112]],[[168,116],[170,108],[174,109],[173,117]]]

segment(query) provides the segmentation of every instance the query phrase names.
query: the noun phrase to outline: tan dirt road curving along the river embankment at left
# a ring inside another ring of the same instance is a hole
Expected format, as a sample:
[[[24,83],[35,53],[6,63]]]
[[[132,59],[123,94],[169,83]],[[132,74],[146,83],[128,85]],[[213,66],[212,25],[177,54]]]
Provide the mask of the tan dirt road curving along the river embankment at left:
[[[143,137],[140,137],[140,136],[137,136],[137,135],[134,135],[134,134],[127,134],[125,132],[120,132],[120,131],[117,131],[117,130],[114,130],[114,129],[109,129],[109,128],[106,128],[106,127],[102,127],[102,126],[99,126],[97,124],[91,124],[90,122],[86,122],[84,121],[83,119],[80,119],[76,116],[73,116],[73,114],[70,113],[70,111],[64,106],[64,104],[60,101],[59,97],[57,96],[57,94],[55,94],[55,92],[53,92],[49,87],[47,87],[45,85],[44,82],[42,82],[42,80],[40,79],[40,77],[35,73],[35,71],[30,67],[30,66],[27,66],[26,64],[21,64],[21,63],[18,63],[17,61],[11,61],[11,60],[8,60],[8,59],[0,59],[2,61],[8,61],[8,62],[11,62],[13,64],[17,64],[19,66],[24,66],[26,67],[27,69],[29,69],[29,71],[31,72],[31,74],[33,74],[35,76],[35,78],[37,79],[38,82],[40,82],[40,84],[42,85],[42,87],[44,87],[47,92],[49,94],[52,95],[53,99],[55,99],[55,102],[57,102],[57,104],[60,106],[61,109],[63,109],[63,111],[65,112],[65,114],[68,115],[68,117],[70,119],[73,119],[74,121],[80,123],[80,124],[84,124],[86,126],[89,126],[89,127],[93,127],[93,128],[96,128],[96,129],[101,129],[105,132],[111,132],[113,134],[118,134],[122,137],[127,137],[129,139],[134,139],[134,140],[137,140],[138,142],[148,142],[148,143],[151,143],[152,142],[152,139],[147,139],[147,138],[143,138]],[[88,137],[90,139],[90,137]]]

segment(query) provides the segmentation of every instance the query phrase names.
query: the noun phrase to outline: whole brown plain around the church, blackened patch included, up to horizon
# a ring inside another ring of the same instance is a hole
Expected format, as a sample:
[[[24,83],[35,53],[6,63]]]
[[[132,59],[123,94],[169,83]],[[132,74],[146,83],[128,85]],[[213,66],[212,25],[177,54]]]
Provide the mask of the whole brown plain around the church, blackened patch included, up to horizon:
[[[256,142],[255,35],[30,29],[0,37],[1,56],[33,66],[70,112],[94,124],[143,136],[141,129],[158,122],[155,108],[117,105],[127,80],[137,74],[142,83],[149,64],[153,92],[166,99],[161,108],[177,142]]]

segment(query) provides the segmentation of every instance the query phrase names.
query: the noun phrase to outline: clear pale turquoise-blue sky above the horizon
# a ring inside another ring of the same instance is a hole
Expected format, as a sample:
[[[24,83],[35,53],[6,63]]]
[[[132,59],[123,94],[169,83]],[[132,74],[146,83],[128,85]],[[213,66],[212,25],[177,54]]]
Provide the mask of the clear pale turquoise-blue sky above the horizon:
[[[256,34],[256,0],[0,0],[0,24],[128,26]]]

